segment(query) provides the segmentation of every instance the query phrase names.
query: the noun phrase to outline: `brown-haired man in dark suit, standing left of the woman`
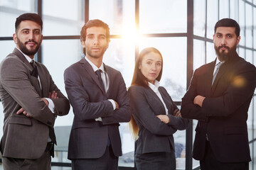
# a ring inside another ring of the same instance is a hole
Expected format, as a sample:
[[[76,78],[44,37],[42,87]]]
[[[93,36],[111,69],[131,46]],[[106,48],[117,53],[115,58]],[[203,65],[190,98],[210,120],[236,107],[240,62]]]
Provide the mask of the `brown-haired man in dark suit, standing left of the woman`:
[[[82,27],[85,57],[65,70],[65,89],[75,114],[68,159],[72,168],[117,169],[122,155],[119,123],[131,118],[122,75],[102,62],[110,28],[100,20]]]

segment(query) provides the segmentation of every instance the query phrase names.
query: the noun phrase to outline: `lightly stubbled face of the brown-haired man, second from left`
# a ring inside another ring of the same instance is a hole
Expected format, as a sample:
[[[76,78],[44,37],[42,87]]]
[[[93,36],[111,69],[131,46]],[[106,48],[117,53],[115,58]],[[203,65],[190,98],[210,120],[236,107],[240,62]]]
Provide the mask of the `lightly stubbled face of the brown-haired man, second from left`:
[[[106,30],[104,28],[87,28],[85,41],[82,41],[82,47],[85,47],[87,58],[102,58],[108,45],[109,42],[107,42]]]

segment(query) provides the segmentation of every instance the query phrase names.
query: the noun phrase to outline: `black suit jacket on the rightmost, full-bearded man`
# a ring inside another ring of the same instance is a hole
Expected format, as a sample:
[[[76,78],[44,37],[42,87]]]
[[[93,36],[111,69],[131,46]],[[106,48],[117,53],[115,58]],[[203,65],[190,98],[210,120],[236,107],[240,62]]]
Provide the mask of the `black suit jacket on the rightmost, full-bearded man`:
[[[249,162],[247,111],[256,86],[255,66],[235,54],[219,69],[211,86],[215,62],[196,69],[182,99],[183,118],[198,120],[193,158],[202,160],[206,133],[213,154],[220,162]],[[193,104],[205,96],[202,108]]]

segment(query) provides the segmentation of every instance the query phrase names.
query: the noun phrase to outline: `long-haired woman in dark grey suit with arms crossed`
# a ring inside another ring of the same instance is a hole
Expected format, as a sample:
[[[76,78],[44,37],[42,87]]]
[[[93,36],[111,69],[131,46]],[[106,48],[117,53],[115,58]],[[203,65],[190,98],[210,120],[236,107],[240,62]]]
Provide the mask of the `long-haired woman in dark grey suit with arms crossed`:
[[[163,57],[154,47],[145,48],[137,57],[128,89],[132,106],[129,125],[137,137],[135,163],[138,170],[176,169],[173,134],[188,127],[171,96],[159,86]]]

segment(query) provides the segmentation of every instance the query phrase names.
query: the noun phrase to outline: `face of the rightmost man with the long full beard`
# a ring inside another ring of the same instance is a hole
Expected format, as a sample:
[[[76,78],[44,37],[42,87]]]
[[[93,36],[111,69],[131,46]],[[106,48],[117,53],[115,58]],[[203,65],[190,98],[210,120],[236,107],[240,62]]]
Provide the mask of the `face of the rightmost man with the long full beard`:
[[[213,42],[216,55],[220,61],[227,61],[235,54],[240,36],[235,35],[235,27],[218,27]]]

